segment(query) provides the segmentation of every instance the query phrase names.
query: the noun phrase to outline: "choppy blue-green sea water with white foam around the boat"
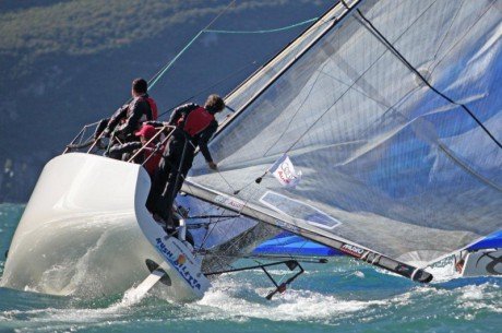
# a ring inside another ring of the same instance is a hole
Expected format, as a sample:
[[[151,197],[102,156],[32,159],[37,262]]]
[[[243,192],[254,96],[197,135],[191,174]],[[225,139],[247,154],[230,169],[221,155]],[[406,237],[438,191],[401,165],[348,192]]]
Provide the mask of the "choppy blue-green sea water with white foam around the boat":
[[[23,210],[0,204],[0,275]],[[271,301],[261,271],[224,275],[184,305],[156,295],[84,300],[0,288],[0,332],[502,332],[501,278],[452,278],[437,267],[439,283],[418,285],[347,258],[303,266]]]

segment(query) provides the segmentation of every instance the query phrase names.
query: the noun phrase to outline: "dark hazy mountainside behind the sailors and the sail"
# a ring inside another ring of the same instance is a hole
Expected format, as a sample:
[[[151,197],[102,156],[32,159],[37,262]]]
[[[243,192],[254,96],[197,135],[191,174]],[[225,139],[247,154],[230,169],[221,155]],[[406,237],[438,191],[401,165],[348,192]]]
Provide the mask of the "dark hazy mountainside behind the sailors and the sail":
[[[85,123],[108,117],[125,103],[133,79],[152,78],[228,3],[0,2],[0,202],[25,202],[43,166]],[[282,27],[316,17],[333,3],[236,1],[211,28]],[[187,99],[203,103],[210,93],[226,95],[306,27],[273,34],[203,34],[151,95],[160,112]]]

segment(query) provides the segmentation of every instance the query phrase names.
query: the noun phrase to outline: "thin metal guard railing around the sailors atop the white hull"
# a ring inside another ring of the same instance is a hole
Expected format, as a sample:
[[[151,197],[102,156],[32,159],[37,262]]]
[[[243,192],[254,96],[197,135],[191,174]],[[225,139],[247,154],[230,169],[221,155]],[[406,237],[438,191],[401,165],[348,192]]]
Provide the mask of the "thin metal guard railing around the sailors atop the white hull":
[[[103,131],[97,133],[99,123],[100,121],[85,124],[75,138],[73,138],[73,140],[65,146],[63,154],[80,152],[96,155],[101,154],[106,156],[112,145],[122,143],[120,139],[115,135],[115,132],[111,133],[110,138],[105,138]],[[157,127],[155,129],[155,135],[145,142],[139,150],[134,151],[132,156],[125,162],[135,163],[138,156],[147,151],[148,153],[144,154],[144,158],[142,159],[142,165],[147,163],[152,156],[164,147],[174,129],[174,126],[166,123],[163,123],[162,127]],[[155,146],[152,146],[152,143],[155,143]]]

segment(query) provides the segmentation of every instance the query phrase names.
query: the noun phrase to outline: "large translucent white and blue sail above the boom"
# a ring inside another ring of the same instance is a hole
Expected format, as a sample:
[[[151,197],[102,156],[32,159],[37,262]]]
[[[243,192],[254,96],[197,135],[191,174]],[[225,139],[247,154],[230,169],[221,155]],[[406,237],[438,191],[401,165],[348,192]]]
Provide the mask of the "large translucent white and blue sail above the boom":
[[[501,34],[500,1],[339,3],[227,98],[190,181],[404,263],[467,246],[502,227]],[[255,181],[286,153],[299,185]]]

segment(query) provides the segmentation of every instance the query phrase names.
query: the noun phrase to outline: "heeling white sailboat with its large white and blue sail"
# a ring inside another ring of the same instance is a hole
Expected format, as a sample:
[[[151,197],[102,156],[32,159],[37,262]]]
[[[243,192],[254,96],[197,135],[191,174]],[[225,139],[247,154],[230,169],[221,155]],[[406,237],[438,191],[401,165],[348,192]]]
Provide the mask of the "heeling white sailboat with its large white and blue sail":
[[[226,97],[218,171],[198,156],[178,198],[193,247],[150,216],[140,165],[67,152],[38,180],[2,285],[95,296],[144,280],[192,300],[280,230],[432,281],[431,263],[502,229],[501,19],[491,0],[335,3]],[[267,298],[303,272],[294,257],[243,269],[256,267]]]

